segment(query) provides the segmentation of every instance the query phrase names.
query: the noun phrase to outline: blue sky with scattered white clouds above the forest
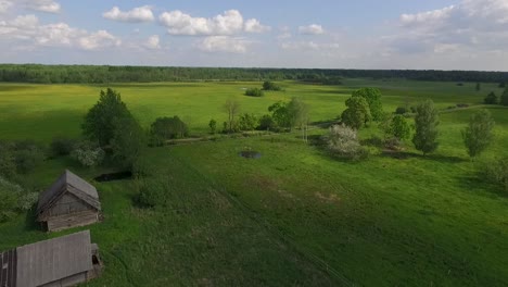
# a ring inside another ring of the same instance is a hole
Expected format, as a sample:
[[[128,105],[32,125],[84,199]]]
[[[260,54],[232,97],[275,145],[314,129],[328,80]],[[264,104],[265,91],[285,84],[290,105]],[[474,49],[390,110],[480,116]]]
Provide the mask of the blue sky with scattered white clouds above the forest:
[[[508,71],[508,0],[0,0],[0,62]]]

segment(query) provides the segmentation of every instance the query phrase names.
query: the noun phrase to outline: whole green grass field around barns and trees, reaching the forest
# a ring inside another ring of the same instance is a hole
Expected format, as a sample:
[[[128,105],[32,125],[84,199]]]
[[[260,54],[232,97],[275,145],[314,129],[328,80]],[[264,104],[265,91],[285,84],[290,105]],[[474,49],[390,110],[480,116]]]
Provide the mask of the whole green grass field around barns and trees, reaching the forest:
[[[259,83],[116,85],[148,126],[179,115],[195,135],[236,97],[258,115],[277,100],[302,97],[313,121],[334,118],[358,87],[379,87],[385,110],[431,98],[445,111],[479,105],[495,85],[350,79],[327,87],[281,83],[284,92],[242,96]],[[101,87],[0,85],[0,138],[49,142],[79,136]],[[480,105],[479,105],[480,107]],[[139,209],[136,183],[97,184],[104,222],[88,228],[106,269],[91,286],[507,286],[508,195],[475,177],[460,129],[477,109],[441,115],[440,149],[428,158],[408,142],[401,159],[380,152],[361,162],[330,158],[296,135],[219,139],[149,149],[152,169],[172,183],[168,207]],[[484,158],[508,155],[508,110],[491,109],[495,144]],[[326,133],[315,129],[318,136]],[[368,139],[379,132],[361,130]],[[249,147],[262,158],[238,153]],[[41,189],[69,159],[50,160],[28,176]],[[75,232],[67,230],[65,233]],[[0,224],[0,250],[64,233],[43,234],[21,215]]]

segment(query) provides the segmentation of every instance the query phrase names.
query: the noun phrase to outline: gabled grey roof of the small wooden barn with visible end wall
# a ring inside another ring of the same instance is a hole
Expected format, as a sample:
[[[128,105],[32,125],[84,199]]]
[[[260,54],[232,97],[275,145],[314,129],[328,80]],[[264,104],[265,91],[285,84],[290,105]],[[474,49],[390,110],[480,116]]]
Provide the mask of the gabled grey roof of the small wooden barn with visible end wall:
[[[85,182],[85,179],[75,175],[68,170],[53,183],[53,185],[42,192],[39,197],[39,204],[37,205],[37,213],[45,211],[58,201],[65,192],[71,192],[77,198],[81,199],[89,205],[101,210],[101,202],[96,187]]]

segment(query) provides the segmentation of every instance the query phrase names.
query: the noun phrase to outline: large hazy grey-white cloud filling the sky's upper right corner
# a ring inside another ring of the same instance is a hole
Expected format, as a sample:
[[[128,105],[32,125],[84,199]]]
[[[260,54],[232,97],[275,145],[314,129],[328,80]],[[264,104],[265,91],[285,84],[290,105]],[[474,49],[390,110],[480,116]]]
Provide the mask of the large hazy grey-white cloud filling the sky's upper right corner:
[[[508,1],[462,0],[453,7],[403,14],[390,45],[402,53],[488,52],[508,45]]]

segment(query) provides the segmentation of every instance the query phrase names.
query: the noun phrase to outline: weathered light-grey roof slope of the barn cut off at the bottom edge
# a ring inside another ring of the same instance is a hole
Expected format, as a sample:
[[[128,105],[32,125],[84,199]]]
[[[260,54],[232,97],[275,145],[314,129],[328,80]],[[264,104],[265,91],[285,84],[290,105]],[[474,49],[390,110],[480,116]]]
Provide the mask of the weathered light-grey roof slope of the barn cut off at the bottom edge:
[[[17,286],[40,286],[93,269],[90,232],[18,247]]]

